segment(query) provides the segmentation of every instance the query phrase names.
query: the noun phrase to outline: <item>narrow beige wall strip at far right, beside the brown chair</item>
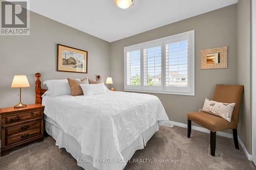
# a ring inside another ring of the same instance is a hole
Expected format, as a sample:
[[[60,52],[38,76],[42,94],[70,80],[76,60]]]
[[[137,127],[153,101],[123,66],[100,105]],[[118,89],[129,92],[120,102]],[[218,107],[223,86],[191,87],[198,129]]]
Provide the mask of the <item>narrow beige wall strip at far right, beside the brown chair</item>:
[[[251,154],[251,1],[237,4],[238,84],[244,85],[244,98],[240,112],[238,135]]]

